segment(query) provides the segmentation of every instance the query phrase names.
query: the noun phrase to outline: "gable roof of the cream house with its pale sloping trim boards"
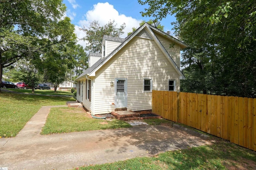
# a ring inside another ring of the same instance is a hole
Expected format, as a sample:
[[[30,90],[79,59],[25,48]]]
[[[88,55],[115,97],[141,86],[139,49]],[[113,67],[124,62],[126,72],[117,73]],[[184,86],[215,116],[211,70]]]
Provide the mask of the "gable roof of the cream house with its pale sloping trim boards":
[[[156,37],[156,35],[154,34],[154,32],[152,31],[155,30],[158,33],[164,35],[165,37],[168,37],[168,39],[171,39],[172,41],[174,41],[175,43],[179,44],[181,46],[181,48],[186,48],[188,47],[187,44],[183,43],[182,41],[168,35],[167,33],[157,29],[156,27],[153,27],[152,25],[148,24],[148,23],[144,23],[142,26],[140,26],[138,29],[136,29],[136,31],[134,31],[133,33],[131,33],[128,37],[126,37],[124,39],[124,41],[122,41],[122,43],[120,45],[118,45],[118,47],[116,47],[116,49],[114,49],[108,56],[106,56],[103,59],[99,59],[95,64],[93,64],[90,68],[88,68],[87,70],[85,70],[80,76],[78,76],[76,78],[76,80],[85,77],[86,75],[89,76],[95,76],[95,72],[101,68],[102,65],[104,65],[107,61],[109,61],[120,49],[122,49],[122,47],[124,47],[124,45],[126,45],[133,37],[135,37],[142,29],[146,29],[148,31],[148,33],[150,34],[150,36],[154,39],[154,41],[156,42],[156,44],[158,45],[158,47],[161,49],[161,51],[164,53],[164,55],[167,57],[167,59],[170,61],[170,63],[172,64],[172,66],[174,67],[174,69],[176,70],[176,72],[180,75],[180,79],[185,79],[184,74],[180,71],[180,68],[177,66],[177,64],[173,61],[172,57],[170,57],[169,53],[166,51],[166,49],[164,48],[164,46],[160,43],[160,41],[158,40],[158,38]],[[105,36],[105,35],[104,35]],[[107,38],[109,38],[110,36],[106,35]],[[119,38],[120,39],[120,38]],[[114,40],[113,40],[114,41]]]

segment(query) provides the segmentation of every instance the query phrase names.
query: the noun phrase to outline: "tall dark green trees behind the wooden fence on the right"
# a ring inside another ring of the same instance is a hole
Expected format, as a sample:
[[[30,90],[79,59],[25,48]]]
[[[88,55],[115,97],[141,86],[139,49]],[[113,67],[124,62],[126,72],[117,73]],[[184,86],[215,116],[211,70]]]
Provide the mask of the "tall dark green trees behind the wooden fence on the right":
[[[184,51],[183,66],[208,80],[200,86],[211,94],[256,96],[256,1],[138,0],[149,7],[142,16],[161,20],[175,14],[176,35],[193,48]],[[202,57],[197,58],[200,54]],[[204,72],[200,71],[200,64]],[[201,78],[202,80],[202,78]],[[191,81],[193,81],[191,79]],[[187,81],[189,82],[189,81]],[[191,82],[189,82],[191,83]],[[188,86],[187,84],[186,86]],[[192,89],[191,89],[192,90]],[[193,90],[196,90],[194,88]]]

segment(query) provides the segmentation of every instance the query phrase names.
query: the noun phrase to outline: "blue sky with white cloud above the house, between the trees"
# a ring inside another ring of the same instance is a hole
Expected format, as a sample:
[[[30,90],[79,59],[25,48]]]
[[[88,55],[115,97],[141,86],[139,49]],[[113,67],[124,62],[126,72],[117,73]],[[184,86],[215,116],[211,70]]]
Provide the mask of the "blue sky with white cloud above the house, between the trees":
[[[115,20],[119,27],[123,23],[126,24],[122,38],[127,36],[127,33],[132,31],[132,27],[139,27],[142,20],[148,21],[154,18],[142,17],[140,12],[144,11],[146,6],[138,3],[138,0],[63,0],[66,4],[68,16],[75,25],[78,38],[85,36],[84,31],[79,28],[88,28],[90,22],[97,20],[100,25],[105,25],[110,20]],[[164,25],[164,31],[172,31],[171,22],[175,21],[174,16],[168,16],[160,21]],[[78,41],[78,44],[85,47],[86,42]]]

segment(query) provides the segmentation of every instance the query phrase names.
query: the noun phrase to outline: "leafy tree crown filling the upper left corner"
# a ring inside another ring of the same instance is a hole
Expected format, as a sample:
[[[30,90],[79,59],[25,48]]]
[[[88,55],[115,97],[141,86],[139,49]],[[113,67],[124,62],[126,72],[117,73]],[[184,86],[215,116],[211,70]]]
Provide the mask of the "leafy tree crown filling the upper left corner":
[[[76,40],[65,11],[62,0],[0,0],[0,84],[3,68]]]

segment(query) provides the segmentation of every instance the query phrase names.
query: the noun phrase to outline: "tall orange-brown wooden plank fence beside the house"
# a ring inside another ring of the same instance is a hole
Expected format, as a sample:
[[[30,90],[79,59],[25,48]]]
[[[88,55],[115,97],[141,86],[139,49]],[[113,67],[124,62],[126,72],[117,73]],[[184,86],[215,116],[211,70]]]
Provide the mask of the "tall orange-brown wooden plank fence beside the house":
[[[256,150],[256,98],[153,90],[152,112]]]

